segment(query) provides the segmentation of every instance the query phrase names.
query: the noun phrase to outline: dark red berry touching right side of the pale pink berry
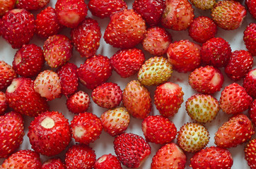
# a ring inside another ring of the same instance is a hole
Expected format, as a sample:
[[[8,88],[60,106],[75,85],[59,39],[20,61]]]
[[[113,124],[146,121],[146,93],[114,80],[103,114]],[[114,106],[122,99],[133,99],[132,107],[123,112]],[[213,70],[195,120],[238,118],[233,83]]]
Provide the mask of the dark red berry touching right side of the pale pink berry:
[[[57,69],[60,84],[62,87],[62,94],[65,96],[74,94],[78,89],[78,75],[77,66],[74,63],[66,63]]]

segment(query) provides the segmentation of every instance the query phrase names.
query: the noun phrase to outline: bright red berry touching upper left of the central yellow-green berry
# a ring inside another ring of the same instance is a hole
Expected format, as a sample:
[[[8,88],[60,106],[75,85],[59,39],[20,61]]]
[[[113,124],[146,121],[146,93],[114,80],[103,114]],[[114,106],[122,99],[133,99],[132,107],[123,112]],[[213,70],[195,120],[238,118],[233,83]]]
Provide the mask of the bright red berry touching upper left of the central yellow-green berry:
[[[121,49],[111,58],[112,68],[123,78],[130,77],[139,71],[145,61],[141,49]]]

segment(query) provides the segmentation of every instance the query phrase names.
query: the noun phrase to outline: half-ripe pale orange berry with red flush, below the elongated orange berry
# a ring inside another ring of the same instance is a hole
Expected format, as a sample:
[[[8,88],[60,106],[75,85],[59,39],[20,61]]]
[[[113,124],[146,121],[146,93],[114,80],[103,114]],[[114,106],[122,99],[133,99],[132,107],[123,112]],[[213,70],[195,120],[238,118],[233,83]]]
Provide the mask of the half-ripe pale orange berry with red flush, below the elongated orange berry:
[[[130,115],[126,108],[119,107],[105,111],[100,116],[100,120],[105,132],[112,137],[115,137],[127,130],[130,122]]]

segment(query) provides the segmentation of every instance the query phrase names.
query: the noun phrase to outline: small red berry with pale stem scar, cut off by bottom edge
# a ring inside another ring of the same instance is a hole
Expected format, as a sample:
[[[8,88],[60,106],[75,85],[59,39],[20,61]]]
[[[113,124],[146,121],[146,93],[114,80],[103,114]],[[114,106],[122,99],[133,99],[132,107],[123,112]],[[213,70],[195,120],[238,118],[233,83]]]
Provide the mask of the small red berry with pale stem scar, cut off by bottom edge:
[[[105,154],[95,162],[94,169],[122,169],[122,166],[117,156]]]

